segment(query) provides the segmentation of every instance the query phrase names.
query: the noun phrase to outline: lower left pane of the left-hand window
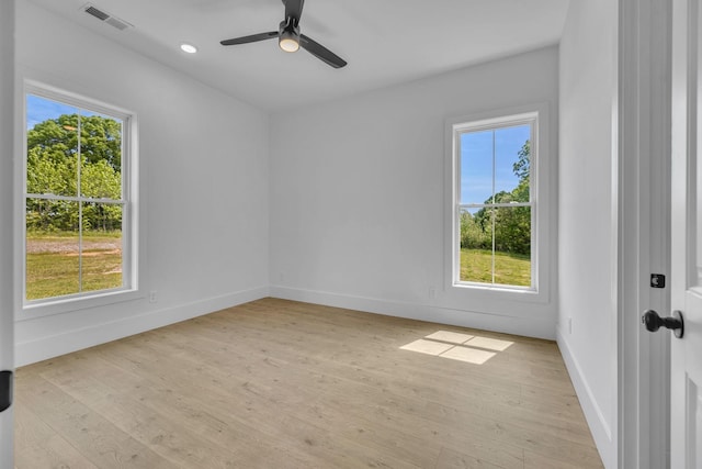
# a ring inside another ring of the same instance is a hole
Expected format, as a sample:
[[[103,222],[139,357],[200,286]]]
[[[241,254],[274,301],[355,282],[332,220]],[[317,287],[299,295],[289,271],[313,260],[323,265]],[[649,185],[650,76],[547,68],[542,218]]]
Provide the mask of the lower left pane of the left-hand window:
[[[78,293],[78,203],[26,202],[26,299]]]

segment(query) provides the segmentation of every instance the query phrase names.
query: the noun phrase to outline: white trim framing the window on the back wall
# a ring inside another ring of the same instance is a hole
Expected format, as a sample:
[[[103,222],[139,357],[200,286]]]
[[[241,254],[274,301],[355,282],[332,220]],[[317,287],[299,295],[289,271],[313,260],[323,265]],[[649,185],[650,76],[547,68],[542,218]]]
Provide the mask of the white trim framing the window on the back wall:
[[[531,200],[532,213],[532,287],[505,286],[492,283],[457,281],[460,269],[460,252],[455,249],[458,242],[460,221],[457,213],[457,189],[461,174],[460,160],[456,160],[456,130],[495,129],[505,125],[525,123],[536,119],[532,124],[532,146],[535,152],[531,161]],[[555,268],[555,247],[551,241],[555,238],[555,168],[551,160],[552,142],[548,134],[551,122],[548,104],[537,103],[518,108],[487,111],[477,114],[461,115],[445,120],[444,145],[444,286],[446,291],[457,299],[505,300],[546,303],[551,300],[551,284]]]

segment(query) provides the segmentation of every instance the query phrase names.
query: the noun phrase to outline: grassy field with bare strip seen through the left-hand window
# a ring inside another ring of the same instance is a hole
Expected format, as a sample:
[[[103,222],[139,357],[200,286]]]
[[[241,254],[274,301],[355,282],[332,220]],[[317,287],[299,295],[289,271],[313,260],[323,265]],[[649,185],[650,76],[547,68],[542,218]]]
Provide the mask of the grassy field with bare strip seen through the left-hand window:
[[[81,259],[82,286],[78,275]],[[120,233],[84,233],[80,255],[75,233],[27,234],[27,300],[118,287],[122,287]]]

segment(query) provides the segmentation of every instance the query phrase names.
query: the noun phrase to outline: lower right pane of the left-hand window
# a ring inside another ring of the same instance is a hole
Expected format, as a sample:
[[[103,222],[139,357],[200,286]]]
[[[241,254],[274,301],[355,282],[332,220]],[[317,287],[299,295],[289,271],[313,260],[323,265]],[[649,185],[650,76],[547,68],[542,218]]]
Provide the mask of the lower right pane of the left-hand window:
[[[82,291],[122,287],[122,206],[83,206]]]

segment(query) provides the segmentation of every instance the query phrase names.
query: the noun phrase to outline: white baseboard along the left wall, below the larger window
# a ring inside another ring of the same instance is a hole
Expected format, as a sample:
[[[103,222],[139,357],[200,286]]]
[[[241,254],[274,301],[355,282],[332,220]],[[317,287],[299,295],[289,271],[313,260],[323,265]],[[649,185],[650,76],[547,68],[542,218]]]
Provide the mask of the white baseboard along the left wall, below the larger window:
[[[59,355],[70,354],[71,351],[248,303],[249,301],[260,300],[268,295],[269,288],[259,287],[18,343],[14,347],[15,366],[22,367]]]

